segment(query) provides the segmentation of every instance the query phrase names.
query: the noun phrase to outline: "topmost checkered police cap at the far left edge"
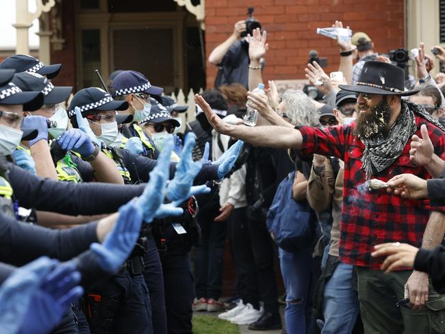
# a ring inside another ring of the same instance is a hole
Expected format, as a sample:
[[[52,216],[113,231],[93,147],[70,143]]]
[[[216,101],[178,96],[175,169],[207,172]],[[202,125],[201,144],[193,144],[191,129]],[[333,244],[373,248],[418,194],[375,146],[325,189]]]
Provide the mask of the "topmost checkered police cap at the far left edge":
[[[34,72],[46,75],[48,79],[57,77],[62,64],[45,65],[31,55],[11,55],[0,63],[0,68],[13,68],[16,73]]]

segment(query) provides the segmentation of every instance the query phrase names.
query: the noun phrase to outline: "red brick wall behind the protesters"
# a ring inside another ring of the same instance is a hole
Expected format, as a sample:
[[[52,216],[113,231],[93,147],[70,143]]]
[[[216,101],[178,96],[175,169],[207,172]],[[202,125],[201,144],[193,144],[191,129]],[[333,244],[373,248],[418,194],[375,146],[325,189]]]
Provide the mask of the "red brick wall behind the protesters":
[[[233,24],[246,17],[246,8],[268,31],[264,79],[304,79],[309,51],[328,58],[327,72],[337,70],[335,40],[316,34],[318,27],[343,21],[353,31],[364,31],[375,50],[387,53],[404,47],[403,0],[206,0],[206,55],[233,31]],[[216,67],[207,62],[207,87],[214,85]]]

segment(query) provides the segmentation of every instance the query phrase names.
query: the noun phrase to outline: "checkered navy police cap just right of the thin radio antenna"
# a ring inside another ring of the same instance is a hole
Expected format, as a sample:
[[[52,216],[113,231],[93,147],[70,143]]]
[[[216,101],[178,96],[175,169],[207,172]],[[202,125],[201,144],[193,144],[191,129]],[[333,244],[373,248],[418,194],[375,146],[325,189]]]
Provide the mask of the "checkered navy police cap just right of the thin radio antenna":
[[[114,97],[131,93],[160,95],[164,92],[164,88],[151,86],[150,81],[136,70],[124,70],[116,75],[112,88]]]

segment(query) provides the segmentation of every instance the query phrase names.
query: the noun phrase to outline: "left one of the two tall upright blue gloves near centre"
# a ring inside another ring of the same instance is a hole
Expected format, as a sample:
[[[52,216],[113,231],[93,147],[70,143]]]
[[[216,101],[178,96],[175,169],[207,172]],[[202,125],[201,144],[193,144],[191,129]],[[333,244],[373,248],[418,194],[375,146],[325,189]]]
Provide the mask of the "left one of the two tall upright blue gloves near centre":
[[[175,207],[179,203],[164,203],[165,186],[170,174],[170,155],[173,150],[173,138],[168,138],[164,149],[160,153],[155,168],[150,172],[149,183],[142,195],[136,200],[136,205],[144,213],[144,222],[150,223],[153,218],[180,216],[183,209]]]

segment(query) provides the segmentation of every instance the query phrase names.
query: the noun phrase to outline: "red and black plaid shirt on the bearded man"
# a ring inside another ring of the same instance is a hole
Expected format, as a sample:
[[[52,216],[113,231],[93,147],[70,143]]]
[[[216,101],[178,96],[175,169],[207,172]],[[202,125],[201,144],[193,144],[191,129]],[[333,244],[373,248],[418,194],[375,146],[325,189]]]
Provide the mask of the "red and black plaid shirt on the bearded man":
[[[428,127],[435,153],[445,159],[444,133],[416,116],[416,134],[421,137],[420,125]],[[354,125],[352,125],[354,126]],[[379,269],[383,259],[372,259],[372,248],[383,242],[406,242],[420,247],[430,210],[445,212],[445,207],[431,207],[429,201],[409,200],[387,194],[385,190],[368,191],[366,173],[361,169],[364,144],[351,133],[351,126],[343,125],[329,129],[312,127],[298,128],[303,135],[303,154],[318,153],[335,156],[344,161],[344,188],[342,220],[340,223],[340,260],[355,266]],[[388,181],[395,175],[411,173],[429,179],[423,167],[409,161],[411,138],[402,154],[380,175],[373,176]],[[361,185],[361,187],[358,187]]]

